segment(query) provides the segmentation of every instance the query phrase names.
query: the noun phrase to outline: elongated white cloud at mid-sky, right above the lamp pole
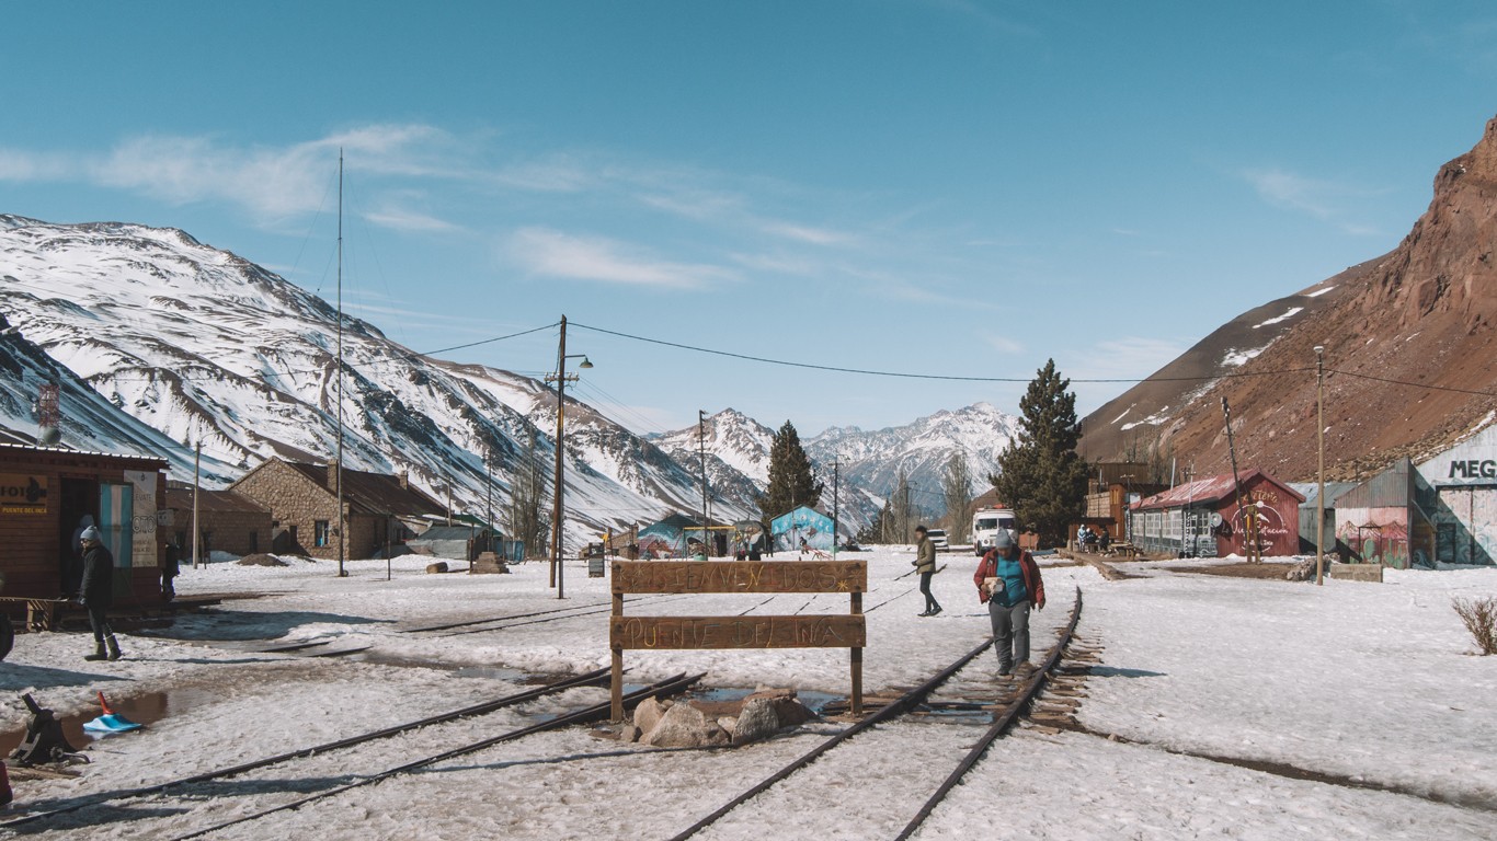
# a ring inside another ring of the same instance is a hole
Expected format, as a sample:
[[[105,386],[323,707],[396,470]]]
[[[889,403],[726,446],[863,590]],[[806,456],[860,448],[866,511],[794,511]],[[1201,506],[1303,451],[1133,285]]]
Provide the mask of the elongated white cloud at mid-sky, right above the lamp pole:
[[[507,253],[531,274],[570,280],[702,289],[732,278],[732,272],[719,266],[662,260],[617,239],[575,236],[546,227],[516,230],[509,238]]]

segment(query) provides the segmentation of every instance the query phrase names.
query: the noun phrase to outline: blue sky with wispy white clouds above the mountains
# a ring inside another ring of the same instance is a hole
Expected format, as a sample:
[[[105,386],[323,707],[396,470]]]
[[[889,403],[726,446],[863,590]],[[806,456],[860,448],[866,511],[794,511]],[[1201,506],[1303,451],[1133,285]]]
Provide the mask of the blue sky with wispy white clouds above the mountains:
[[[1016,413],[1051,358],[1090,412],[1127,385],[1079,380],[1395,247],[1497,115],[1497,6],[1469,1],[84,1],[6,28],[0,212],[181,227],[331,301],[341,148],[347,311],[422,352],[566,314],[575,394],[638,431]]]

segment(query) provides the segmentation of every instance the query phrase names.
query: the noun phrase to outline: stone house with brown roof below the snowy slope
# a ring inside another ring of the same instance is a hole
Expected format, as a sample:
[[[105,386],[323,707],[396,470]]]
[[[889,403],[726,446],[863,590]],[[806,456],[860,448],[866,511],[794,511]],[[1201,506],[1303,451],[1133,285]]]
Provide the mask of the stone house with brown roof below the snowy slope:
[[[415,524],[446,518],[440,503],[413,488],[409,474],[343,468],[347,542],[343,557],[377,558],[416,534]],[[338,557],[338,464],[271,458],[229,486],[271,512],[271,551]]]

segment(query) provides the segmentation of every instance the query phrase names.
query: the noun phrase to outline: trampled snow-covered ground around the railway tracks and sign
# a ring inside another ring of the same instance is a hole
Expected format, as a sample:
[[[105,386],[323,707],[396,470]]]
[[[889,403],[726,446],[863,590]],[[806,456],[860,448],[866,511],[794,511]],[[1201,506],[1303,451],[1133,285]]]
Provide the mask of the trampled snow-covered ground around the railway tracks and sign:
[[[912,685],[985,639],[975,558],[942,555],[945,612],[921,618],[907,548],[870,561],[867,691]],[[784,558],[784,557],[781,557]],[[784,558],[789,560],[789,558]],[[48,808],[102,792],[332,741],[519,691],[533,673],[608,664],[608,581],[543,564],[512,575],[425,575],[427,558],[186,569],[178,593],[225,599],[172,629],[123,634],[126,658],[90,663],[87,634],[22,634],[0,663],[0,715],[22,726],[21,693],[58,715],[96,715],[103,691],[147,729],[87,744],[76,780],[16,780],[18,804]],[[1079,588],[1079,634],[1100,648],[1076,712],[1088,732],[1019,727],[924,825],[921,838],[1494,838],[1497,657],[1475,643],[1455,596],[1497,596],[1497,569],[1388,572],[1385,584],[1325,587],[1171,572],[1223,561],[1121,564],[1138,578],[1046,566],[1036,657]],[[900,578],[903,576],[903,578]],[[596,612],[585,612],[587,609]],[[542,614],[503,630],[409,629]],[[846,612],[846,596],[660,596],[629,614]],[[578,615],[572,615],[578,614]],[[561,618],[557,618],[561,617]],[[251,639],[370,646],[343,658],[260,654]],[[629,651],[630,681],[707,672],[714,687],[793,685],[846,694],[841,649]],[[996,670],[996,658],[982,663]],[[969,678],[970,679],[970,678]],[[982,675],[978,681],[984,681]],[[418,738],[334,751],[181,795],[31,825],[40,838],[169,838],[359,775],[509,730],[606,688],[501,711]],[[576,727],[217,832],[214,838],[669,838],[838,726],[738,748],[657,751]],[[859,735],[746,804],[699,838],[891,838],[981,730],[894,723]],[[1108,736],[1114,738],[1108,738]],[[1244,765],[1247,763],[1247,765]],[[1257,763],[1257,765],[1253,765]],[[228,795],[256,793],[253,804]],[[216,798],[223,795],[223,798]],[[214,805],[208,816],[204,804]],[[222,808],[219,808],[222,807]],[[0,816],[3,820],[3,816]],[[3,834],[0,834],[3,835]]]

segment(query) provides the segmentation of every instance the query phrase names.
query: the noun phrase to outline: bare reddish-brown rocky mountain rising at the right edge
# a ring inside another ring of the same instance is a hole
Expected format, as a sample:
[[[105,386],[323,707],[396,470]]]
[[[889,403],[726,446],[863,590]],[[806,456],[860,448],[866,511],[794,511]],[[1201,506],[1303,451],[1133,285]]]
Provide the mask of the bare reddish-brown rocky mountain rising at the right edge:
[[[1090,461],[1169,453],[1198,476],[1316,477],[1325,347],[1326,480],[1421,459],[1497,419],[1497,118],[1440,168],[1392,251],[1238,316],[1082,420]]]

